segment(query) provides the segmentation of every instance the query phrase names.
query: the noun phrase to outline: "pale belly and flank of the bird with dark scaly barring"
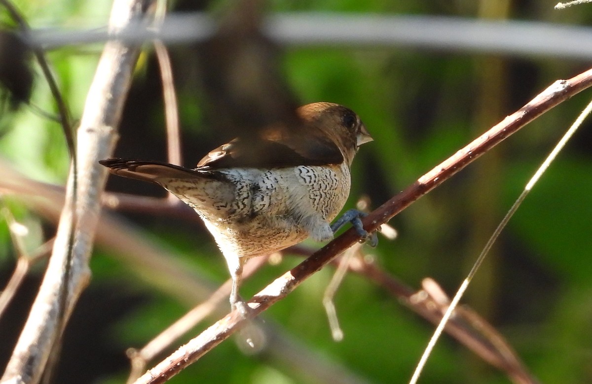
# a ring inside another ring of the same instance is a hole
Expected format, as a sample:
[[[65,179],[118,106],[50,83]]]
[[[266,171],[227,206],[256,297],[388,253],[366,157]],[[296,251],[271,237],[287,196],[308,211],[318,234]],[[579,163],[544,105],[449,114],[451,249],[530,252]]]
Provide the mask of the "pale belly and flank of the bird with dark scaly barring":
[[[200,214],[222,252],[242,258],[276,252],[308,236],[331,239],[330,222],[349,196],[347,164],[219,172],[221,180],[169,180],[167,189]]]

